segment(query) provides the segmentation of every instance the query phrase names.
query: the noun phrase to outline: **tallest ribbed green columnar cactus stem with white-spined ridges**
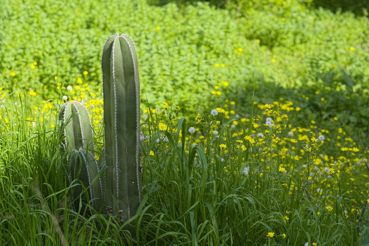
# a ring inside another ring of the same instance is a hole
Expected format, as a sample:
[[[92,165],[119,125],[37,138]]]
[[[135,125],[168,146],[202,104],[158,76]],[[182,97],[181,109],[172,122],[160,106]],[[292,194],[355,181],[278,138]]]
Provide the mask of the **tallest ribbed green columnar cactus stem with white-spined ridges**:
[[[103,70],[106,209],[127,221],[141,202],[138,60],[127,35],[104,44]]]

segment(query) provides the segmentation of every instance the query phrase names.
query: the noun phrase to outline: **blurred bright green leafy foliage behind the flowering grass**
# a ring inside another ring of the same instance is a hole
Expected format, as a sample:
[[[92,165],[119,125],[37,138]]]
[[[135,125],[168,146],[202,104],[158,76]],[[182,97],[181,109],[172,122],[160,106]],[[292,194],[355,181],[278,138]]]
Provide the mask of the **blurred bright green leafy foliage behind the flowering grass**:
[[[259,102],[283,97],[303,108],[297,122],[310,118],[329,124],[337,116],[349,129],[359,127],[358,137],[365,138],[368,11],[359,2],[328,5],[310,0],[5,0],[0,87],[8,93],[18,85],[33,90],[33,103],[40,104],[58,95],[55,76],[65,87],[81,77],[100,95],[102,44],[109,35],[125,33],[136,42],[144,102],[172,101],[194,116],[199,105],[210,110],[229,99],[239,113],[247,113],[255,88]],[[230,85],[214,89],[221,81]]]

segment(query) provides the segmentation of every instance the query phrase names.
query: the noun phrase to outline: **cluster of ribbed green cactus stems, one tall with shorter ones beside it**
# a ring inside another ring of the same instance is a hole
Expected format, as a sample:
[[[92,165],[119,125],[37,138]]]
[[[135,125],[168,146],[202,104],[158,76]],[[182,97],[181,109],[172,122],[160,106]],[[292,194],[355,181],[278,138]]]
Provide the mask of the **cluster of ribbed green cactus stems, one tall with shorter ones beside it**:
[[[89,196],[91,199],[105,195],[105,210],[127,221],[136,214],[141,203],[138,60],[131,38],[123,34],[110,36],[103,47],[101,67],[105,126],[105,158],[101,160],[106,162],[105,190],[100,189],[99,193],[98,184],[94,183]],[[93,137],[87,110],[78,102],[68,102],[62,105],[59,119],[65,124],[65,136],[69,136],[61,145],[64,151],[72,153],[68,155],[70,180],[78,179],[88,187],[99,167],[88,151],[93,149]],[[75,197],[82,192],[77,187]],[[99,210],[99,199],[93,206]],[[135,238],[134,227],[128,229]]]

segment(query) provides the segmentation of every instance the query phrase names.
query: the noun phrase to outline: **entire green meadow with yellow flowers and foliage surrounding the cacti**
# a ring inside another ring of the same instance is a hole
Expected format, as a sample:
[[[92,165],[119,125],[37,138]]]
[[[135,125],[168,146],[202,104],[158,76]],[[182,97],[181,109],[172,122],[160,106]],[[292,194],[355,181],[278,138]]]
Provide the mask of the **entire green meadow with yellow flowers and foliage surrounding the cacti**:
[[[368,10],[347,6],[6,0],[0,242],[369,245]],[[101,48],[117,32],[135,41],[146,146],[128,221],[70,196],[58,119],[83,103],[103,156]]]

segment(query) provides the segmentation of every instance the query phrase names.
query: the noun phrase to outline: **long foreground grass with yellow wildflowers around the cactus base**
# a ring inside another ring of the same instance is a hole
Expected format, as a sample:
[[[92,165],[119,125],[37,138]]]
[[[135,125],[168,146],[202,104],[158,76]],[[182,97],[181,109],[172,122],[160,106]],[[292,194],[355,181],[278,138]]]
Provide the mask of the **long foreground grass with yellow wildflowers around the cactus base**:
[[[58,102],[51,102],[54,108],[44,112],[41,121],[34,120],[27,99],[21,98],[14,93],[1,100],[3,245],[366,242],[364,221],[368,215],[358,212],[363,208],[361,196],[355,194],[353,199],[352,187],[343,181],[352,174],[337,163],[330,166],[334,170],[329,173],[323,171],[329,163],[314,164],[321,146],[329,142],[317,140],[309,152],[304,146],[307,140],[299,140],[296,146],[306,152],[301,159],[294,146],[281,146],[281,140],[289,136],[284,129],[287,122],[268,105],[260,110],[250,102],[255,115],[249,119],[226,119],[218,108],[217,116],[199,114],[193,123],[176,119],[178,107],[171,110],[169,106],[162,113],[143,110],[147,115],[142,119],[147,144],[142,146],[145,151],[141,160],[144,196],[139,212],[122,222],[99,214],[89,204],[80,211],[72,209],[70,190],[76,184],[69,183],[66,156],[59,150]],[[4,120],[4,116],[14,120]],[[280,123],[253,127],[266,117]],[[165,130],[159,129],[160,123],[165,124]],[[188,131],[191,125],[196,127],[193,134]],[[101,123],[94,129],[101,130]],[[258,133],[263,133],[263,138]],[[299,136],[306,135],[303,132]],[[361,189],[366,189],[363,184]],[[124,229],[134,220],[137,240]]]

